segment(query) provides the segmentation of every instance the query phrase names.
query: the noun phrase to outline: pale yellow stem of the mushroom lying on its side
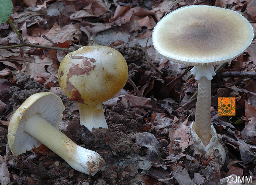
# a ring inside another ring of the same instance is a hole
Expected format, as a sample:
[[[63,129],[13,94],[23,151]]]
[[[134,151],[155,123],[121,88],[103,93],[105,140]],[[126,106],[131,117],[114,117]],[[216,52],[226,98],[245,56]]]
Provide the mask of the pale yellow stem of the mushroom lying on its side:
[[[34,114],[27,120],[24,131],[82,173],[94,175],[105,165],[97,152],[78,146],[39,114]]]

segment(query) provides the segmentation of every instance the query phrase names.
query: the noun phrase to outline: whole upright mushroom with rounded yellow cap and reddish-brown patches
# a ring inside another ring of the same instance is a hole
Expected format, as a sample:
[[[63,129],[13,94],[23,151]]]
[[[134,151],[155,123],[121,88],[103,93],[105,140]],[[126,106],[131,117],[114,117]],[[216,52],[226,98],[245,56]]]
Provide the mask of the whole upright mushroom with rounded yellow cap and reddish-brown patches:
[[[78,102],[80,124],[108,128],[102,103],[116,95],[128,78],[127,63],[108,46],[83,46],[67,54],[59,67],[61,89]]]

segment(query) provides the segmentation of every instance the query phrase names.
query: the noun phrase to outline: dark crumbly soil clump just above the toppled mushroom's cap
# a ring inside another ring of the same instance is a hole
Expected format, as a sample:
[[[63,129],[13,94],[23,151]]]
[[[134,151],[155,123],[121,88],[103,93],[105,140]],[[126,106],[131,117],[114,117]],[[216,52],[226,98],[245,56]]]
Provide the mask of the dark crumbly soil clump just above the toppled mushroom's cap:
[[[10,106],[21,105],[31,95],[47,91],[42,84],[35,82],[34,78],[30,78],[30,75],[25,73],[16,74],[16,79],[16,83],[24,87],[24,89],[17,86],[10,87]]]

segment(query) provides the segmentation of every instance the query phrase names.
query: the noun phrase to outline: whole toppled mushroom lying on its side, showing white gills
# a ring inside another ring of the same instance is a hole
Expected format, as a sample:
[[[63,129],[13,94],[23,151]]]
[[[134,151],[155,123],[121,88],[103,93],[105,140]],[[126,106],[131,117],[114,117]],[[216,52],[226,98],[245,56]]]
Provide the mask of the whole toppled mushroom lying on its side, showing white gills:
[[[78,146],[57,129],[63,110],[64,105],[56,94],[36,93],[27,98],[9,123],[11,151],[20,155],[43,143],[75,170],[94,175],[105,161],[97,152]]]

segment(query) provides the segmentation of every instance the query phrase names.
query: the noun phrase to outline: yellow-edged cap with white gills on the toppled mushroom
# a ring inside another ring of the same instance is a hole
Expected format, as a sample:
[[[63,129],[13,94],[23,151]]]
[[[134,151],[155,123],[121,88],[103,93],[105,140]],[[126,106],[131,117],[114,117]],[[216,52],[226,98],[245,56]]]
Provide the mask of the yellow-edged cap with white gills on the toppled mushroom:
[[[33,136],[24,132],[27,118],[38,113],[57,128],[63,116],[63,111],[64,105],[56,94],[49,92],[36,93],[27,98],[14,112],[9,122],[7,137],[12,153],[19,155],[41,144]]]

